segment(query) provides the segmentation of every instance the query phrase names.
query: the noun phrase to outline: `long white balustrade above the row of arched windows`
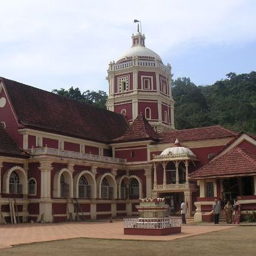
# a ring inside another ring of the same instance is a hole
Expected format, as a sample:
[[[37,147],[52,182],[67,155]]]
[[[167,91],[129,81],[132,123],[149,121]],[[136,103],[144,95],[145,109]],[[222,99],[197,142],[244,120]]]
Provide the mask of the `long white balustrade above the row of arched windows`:
[[[124,165],[126,163],[126,159],[122,159],[122,158],[105,157],[104,155],[94,155],[94,154],[88,154],[88,153],[82,153],[82,152],[54,149],[54,148],[48,148],[47,146],[44,148],[32,148],[30,149],[30,153],[32,155],[57,155],[60,157],[78,158],[78,159],[93,160],[98,162],[119,163],[121,165]]]

